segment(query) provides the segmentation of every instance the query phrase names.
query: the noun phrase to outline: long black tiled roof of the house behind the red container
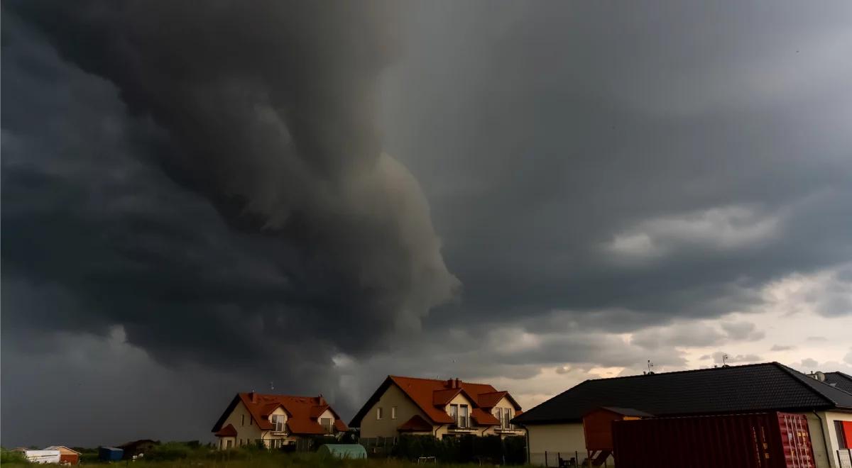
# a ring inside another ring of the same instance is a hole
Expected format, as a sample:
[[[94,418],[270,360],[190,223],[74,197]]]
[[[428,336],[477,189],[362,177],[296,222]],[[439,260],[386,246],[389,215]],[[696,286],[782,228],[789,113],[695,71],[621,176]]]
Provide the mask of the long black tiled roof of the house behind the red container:
[[[586,380],[516,417],[518,424],[579,421],[599,407],[657,416],[852,409],[852,394],[778,362]]]

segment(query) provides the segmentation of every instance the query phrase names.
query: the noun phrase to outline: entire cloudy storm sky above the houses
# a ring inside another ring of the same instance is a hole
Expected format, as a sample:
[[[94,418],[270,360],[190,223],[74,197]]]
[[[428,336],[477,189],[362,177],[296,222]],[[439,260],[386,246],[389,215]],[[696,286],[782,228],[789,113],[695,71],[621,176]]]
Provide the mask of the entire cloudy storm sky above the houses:
[[[65,5],[3,3],[4,447],[852,373],[852,3]]]

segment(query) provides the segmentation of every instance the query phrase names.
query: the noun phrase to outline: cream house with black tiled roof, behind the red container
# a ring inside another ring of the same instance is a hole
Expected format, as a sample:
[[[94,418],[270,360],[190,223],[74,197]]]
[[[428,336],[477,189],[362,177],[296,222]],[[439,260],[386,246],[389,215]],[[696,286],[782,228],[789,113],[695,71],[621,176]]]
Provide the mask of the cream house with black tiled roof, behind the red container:
[[[545,465],[545,453],[548,464],[557,456],[582,462],[583,416],[601,407],[635,408],[661,417],[804,414],[817,468],[841,466],[848,447],[844,431],[852,425],[852,393],[778,362],[586,380],[513,419],[527,429],[530,462]]]

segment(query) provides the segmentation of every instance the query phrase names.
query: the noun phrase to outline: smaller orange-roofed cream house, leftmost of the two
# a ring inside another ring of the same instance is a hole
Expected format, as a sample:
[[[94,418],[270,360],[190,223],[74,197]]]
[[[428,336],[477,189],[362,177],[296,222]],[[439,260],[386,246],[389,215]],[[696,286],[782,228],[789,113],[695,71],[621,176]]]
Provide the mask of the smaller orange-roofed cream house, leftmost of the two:
[[[348,427],[340,416],[319,397],[238,393],[213,426],[217,447],[262,444],[281,448],[300,438],[334,437]]]

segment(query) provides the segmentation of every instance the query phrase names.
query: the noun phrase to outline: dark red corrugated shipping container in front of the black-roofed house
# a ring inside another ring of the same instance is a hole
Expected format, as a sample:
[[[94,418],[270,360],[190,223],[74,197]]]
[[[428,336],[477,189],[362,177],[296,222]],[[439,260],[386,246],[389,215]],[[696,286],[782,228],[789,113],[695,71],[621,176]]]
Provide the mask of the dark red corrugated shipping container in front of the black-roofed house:
[[[803,414],[613,421],[618,468],[815,468]]]

